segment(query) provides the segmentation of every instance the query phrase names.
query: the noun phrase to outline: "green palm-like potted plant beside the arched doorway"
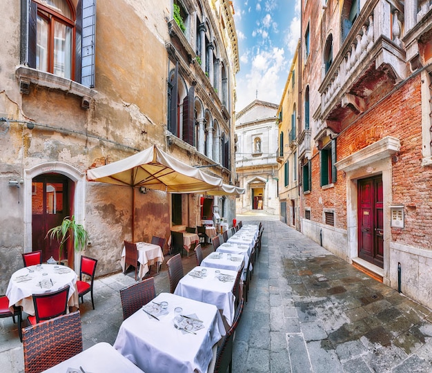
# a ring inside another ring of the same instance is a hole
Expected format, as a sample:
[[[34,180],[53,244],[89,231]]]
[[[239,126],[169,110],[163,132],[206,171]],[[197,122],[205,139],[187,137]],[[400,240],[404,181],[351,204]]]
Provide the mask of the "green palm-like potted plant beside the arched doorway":
[[[61,264],[63,246],[69,238],[72,237],[74,249],[77,252],[82,251],[88,242],[88,233],[86,229],[75,221],[75,216],[73,215],[72,218],[66,216],[60,225],[51,228],[48,233],[46,233],[45,238],[48,236],[50,236],[50,240],[57,238],[57,241],[59,241],[59,264]]]

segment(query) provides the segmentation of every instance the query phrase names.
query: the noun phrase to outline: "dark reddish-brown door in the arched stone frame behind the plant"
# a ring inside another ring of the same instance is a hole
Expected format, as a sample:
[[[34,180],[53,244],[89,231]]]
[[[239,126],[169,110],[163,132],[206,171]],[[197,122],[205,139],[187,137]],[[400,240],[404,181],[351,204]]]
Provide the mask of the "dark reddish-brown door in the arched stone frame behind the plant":
[[[32,180],[32,249],[42,250],[44,262],[50,256],[59,258],[59,243],[46,238],[46,233],[70,216],[68,184],[68,178],[57,174],[40,175]],[[68,258],[67,247],[63,248],[61,258]]]

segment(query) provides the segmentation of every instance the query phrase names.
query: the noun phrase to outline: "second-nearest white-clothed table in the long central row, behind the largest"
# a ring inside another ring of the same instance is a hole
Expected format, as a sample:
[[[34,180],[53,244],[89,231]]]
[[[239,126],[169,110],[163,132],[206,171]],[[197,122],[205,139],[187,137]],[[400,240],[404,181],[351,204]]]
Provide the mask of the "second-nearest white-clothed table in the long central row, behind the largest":
[[[203,268],[206,269],[206,276],[197,278],[195,274],[201,273]],[[216,268],[195,267],[179,280],[174,294],[215,305],[225,318],[226,324],[231,326],[235,312],[233,288],[237,271],[221,270],[221,276],[230,276],[230,280],[224,282],[216,277],[216,270]]]

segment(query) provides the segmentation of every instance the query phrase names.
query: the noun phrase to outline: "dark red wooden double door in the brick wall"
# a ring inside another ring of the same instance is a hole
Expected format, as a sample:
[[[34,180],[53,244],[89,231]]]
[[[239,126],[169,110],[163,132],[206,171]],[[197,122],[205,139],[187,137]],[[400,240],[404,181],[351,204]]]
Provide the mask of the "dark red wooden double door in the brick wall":
[[[382,177],[358,182],[358,256],[384,267]]]

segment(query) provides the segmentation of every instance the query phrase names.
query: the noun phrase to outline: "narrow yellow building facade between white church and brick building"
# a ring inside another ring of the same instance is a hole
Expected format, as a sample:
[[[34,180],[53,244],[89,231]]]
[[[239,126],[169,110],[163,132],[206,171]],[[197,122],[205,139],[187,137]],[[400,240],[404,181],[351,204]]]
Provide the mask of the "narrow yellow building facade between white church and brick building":
[[[279,148],[277,149],[277,162],[279,163],[279,202],[280,218],[286,224],[300,230],[300,193],[298,169],[298,155],[300,151],[306,153],[305,149],[299,149],[297,141],[300,133],[304,137],[306,131],[300,128],[299,113],[299,69],[300,41],[297,44],[293,62],[288,73],[288,79],[282,94],[282,99],[277,109],[277,122],[279,123]],[[310,138],[310,135],[309,135]],[[305,144],[305,142],[302,142]]]

